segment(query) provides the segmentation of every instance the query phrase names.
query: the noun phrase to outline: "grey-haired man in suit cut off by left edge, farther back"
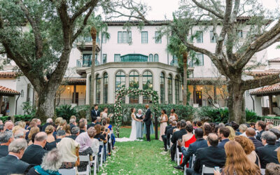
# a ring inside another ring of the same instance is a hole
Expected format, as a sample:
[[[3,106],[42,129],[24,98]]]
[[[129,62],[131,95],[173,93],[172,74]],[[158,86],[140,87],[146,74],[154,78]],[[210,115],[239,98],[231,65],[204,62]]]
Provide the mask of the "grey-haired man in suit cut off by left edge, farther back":
[[[13,132],[0,132],[0,158],[8,155],[8,146],[13,141]]]

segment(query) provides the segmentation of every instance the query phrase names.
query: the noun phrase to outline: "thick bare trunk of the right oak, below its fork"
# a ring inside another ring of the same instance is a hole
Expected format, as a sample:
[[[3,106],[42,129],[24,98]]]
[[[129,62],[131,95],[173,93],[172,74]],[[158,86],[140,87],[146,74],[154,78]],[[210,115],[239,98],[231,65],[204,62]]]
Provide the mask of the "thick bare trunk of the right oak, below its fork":
[[[235,121],[239,124],[246,122],[244,90],[241,86],[241,78],[230,80],[227,85],[229,121]]]

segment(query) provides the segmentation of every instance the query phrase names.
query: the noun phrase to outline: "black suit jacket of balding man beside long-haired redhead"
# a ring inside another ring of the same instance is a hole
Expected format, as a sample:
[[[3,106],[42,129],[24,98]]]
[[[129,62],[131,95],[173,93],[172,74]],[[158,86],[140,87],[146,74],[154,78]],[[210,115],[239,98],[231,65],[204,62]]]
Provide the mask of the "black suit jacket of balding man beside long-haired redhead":
[[[203,165],[206,167],[223,167],[225,158],[225,150],[218,146],[199,148],[196,152],[194,170],[201,174]]]

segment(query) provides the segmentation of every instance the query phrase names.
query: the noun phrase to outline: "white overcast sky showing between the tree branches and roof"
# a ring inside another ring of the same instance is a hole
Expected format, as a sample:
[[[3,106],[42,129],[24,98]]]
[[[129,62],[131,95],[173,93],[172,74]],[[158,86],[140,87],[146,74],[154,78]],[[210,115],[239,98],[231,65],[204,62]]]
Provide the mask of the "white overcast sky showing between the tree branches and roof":
[[[180,0],[141,0],[148,6],[151,6],[151,11],[148,12],[146,18],[148,20],[165,20],[172,19],[172,12],[179,8]],[[274,10],[275,8],[280,9],[280,0],[260,0],[262,5],[269,10]],[[280,57],[280,49],[276,50],[276,45],[280,43],[274,43],[269,48],[267,48],[268,59],[273,59],[275,57]]]

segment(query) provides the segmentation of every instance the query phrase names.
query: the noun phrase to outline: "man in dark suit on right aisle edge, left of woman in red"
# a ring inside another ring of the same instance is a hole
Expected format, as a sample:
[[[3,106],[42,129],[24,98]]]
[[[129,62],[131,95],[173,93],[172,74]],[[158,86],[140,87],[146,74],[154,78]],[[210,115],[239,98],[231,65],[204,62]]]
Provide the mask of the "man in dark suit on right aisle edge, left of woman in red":
[[[170,148],[171,161],[174,161],[174,158],[175,158],[177,141],[179,139],[182,139],[182,136],[184,134],[187,134],[186,123],[181,122],[179,129],[180,129],[179,131],[176,131],[176,132],[173,133],[172,138],[171,138],[171,141],[172,141],[172,144],[173,144],[172,147]]]

